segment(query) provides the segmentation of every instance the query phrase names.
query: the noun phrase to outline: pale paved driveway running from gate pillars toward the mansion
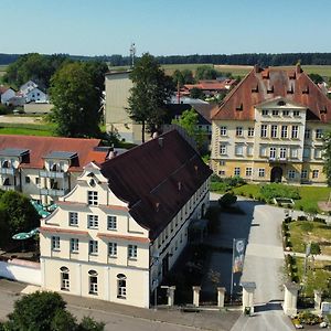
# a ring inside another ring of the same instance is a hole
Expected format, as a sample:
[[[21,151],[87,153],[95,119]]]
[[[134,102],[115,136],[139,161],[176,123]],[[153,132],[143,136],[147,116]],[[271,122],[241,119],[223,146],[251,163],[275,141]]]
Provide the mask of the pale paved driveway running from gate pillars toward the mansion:
[[[217,200],[218,196],[211,193],[211,200]],[[280,234],[284,210],[245,199],[239,199],[237,205],[245,215],[221,214],[222,232],[218,244],[232,245],[234,237],[247,239],[244,271],[243,275],[236,275],[235,282],[256,282],[256,313],[250,318],[241,317],[232,330],[293,330],[280,306],[284,300],[284,253]],[[226,287],[229,286],[228,277],[231,273],[226,275]]]

